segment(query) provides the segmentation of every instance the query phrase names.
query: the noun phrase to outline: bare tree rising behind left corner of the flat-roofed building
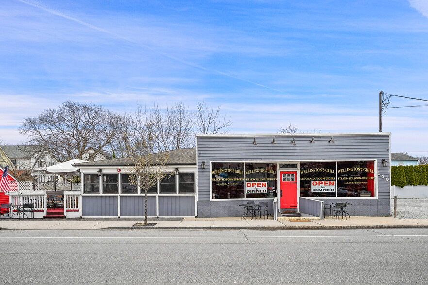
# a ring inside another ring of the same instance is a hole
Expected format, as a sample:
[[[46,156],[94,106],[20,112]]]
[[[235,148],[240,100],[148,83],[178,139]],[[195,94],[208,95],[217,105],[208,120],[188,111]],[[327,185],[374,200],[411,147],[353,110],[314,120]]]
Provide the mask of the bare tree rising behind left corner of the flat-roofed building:
[[[199,101],[195,112],[195,128],[202,134],[225,134],[228,132],[230,117],[220,116],[220,106],[217,109],[208,108],[204,101]]]

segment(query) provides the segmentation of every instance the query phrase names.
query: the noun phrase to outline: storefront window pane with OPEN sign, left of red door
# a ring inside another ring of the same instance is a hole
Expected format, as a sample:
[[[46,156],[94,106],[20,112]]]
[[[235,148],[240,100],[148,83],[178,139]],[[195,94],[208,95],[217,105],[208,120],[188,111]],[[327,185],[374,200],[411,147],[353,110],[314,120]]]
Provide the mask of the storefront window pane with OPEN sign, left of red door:
[[[245,197],[273,198],[277,196],[277,164],[245,164]]]

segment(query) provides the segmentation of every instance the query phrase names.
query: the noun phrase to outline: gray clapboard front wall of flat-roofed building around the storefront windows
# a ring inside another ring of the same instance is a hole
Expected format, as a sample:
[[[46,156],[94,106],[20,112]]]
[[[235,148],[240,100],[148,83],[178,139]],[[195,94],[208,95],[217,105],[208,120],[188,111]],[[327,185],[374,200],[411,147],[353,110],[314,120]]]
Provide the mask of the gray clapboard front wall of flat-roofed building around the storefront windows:
[[[374,215],[389,215],[389,207],[384,204],[389,203],[390,182],[382,179],[382,175],[390,178],[389,162],[389,133],[357,134],[357,135],[334,135],[334,144],[328,143],[331,134],[319,135],[280,135],[272,134],[267,136],[200,136],[197,137],[197,166],[198,166],[198,217],[216,217],[213,215],[213,206],[216,205],[227,211],[227,208],[219,206],[224,201],[210,201],[210,165],[214,161],[336,161],[336,160],[367,160],[378,159],[378,199],[346,199],[345,202],[355,201],[355,208],[365,210],[366,213],[376,213]],[[275,137],[276,144],[272,144]],[[314,137],[315,143],[309,143]],[[257,145],[252,142],[256,138]],[[295,139],[296,145],[290,142]],[[388,161],[386,167],[382,166],[382,159]],[[207,164],[206,169],[200,168],[201,161]],[[379,200],[385,202],[379,202]],[[322,199],[320,199],[322,200]],[[387,201],[386,201],[387,200]],[[331,201],[331,200],[326,200]],[[358,201],[358,202],[357,202]],[[203,203],[202,203],[203,202]],[[230,204],[228,201],[227,204]],[[339,202],[338,199],[331,202]],[[242,201],[238,202],[242,204]],[[353,203],[353,202],[350,202]],[[389,205],[389,204],[388,204]],[[366,209],[366,206],[370,209]],[[209,213],[211,211],[211,214]],[[235,213],[230,210],[230,215]],[[225,213],[227,215],[227,213]]]

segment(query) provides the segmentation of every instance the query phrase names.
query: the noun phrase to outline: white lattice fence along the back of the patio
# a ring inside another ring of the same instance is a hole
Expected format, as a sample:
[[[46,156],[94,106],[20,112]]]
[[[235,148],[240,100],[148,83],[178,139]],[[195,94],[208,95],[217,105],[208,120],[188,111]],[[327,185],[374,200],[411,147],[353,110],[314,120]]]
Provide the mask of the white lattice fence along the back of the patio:
[[[11,192],[32,192],[32,191],[80,191],[81,183],[55,183],[54,182],[32,182],[32,181],[10,181]]]

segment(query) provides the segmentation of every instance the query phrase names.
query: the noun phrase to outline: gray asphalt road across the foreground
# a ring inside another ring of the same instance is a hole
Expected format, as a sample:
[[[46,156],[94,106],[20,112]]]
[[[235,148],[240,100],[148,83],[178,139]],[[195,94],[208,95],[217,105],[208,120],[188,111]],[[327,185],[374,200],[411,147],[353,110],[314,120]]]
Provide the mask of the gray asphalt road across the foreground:
[[[1,284],[428,284],[428,229],[0,231]]]

